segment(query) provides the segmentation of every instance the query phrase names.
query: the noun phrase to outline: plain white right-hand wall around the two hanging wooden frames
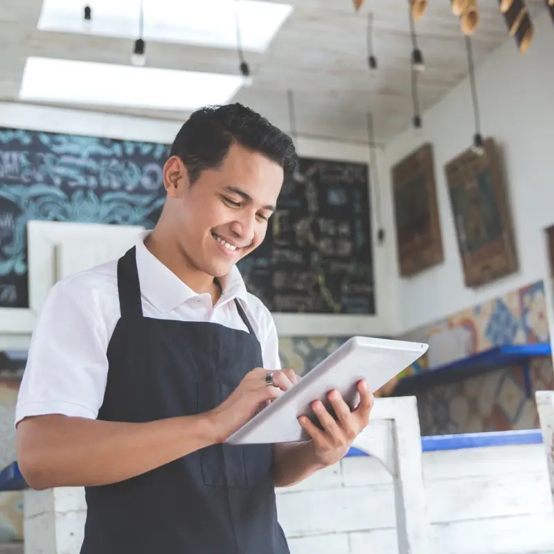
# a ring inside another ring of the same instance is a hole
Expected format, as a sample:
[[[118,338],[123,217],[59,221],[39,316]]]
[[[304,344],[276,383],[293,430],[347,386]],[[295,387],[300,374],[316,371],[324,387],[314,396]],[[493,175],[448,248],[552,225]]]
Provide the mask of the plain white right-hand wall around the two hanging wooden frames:
[[[472,143],[474,118],[467,79],[423,115],[421,136],[409,129],[386,146],[390,168],[421,143],[434,145],[445,251],[442,265],[398,283],[401,330],[431,323],[544,277],[543,229],[554,223],[554,25],[546,10],[534,24],[535,39],[524,55],[508,38],[476,69],[481,132],[492,136],[503,152],[519,256],[517,274],[476,290],[463,283],[444,166]]]

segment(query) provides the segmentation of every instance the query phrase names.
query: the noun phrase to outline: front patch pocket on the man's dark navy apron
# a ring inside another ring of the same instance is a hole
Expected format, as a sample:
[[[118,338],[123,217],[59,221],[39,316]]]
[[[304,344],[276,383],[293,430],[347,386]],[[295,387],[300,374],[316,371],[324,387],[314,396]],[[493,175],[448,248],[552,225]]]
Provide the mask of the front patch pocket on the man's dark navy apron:
[[[214,382],[198,383],[198,411],[204,413],[219,406],[233,388]],[[248,488],[244,447],[239,445],[211,445],[200,450],[204,484],[210,487]]]

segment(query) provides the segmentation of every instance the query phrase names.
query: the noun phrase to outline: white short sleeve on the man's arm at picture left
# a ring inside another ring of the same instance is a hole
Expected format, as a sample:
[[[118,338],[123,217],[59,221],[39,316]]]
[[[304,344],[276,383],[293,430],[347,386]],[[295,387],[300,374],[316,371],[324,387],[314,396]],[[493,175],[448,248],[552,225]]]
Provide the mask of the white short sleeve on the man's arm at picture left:
[[[95,419],[107,379],[107,330],[75,281],[56,283],[30,341],[15,425],[33,415]]]

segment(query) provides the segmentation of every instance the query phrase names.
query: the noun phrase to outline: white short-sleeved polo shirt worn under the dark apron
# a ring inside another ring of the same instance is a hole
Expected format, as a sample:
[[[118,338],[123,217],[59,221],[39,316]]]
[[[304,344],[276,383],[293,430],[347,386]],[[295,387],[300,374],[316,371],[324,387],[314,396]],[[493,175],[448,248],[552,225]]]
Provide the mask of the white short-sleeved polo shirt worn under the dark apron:
[[[264,367],[279,369],[275,323],[267,307],[247,292],[240,271],[233,267],[220,279],[223,294],[213,306],[210,294],[195,293],[146,249],[146,235],[148,231],[136,243],[143,314],[247,331],[235,306],[238,298],[260,341]],[[117,261],[64,278],[52,287],[31,339],[16,425],[28,416],[51,413],[96,419],[107,380],[108,343],[120,318]]]

